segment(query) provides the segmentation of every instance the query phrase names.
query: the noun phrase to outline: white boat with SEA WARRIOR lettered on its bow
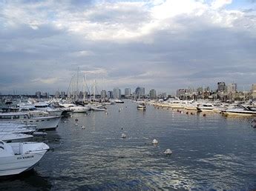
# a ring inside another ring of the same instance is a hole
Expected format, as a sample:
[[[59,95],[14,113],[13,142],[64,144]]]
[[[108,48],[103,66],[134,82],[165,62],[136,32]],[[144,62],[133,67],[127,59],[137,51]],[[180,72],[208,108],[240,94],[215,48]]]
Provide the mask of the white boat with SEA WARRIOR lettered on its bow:
[[[45,143],[5,143],[0,141],[0,176],[17,175],[31,170],[49,147]]]

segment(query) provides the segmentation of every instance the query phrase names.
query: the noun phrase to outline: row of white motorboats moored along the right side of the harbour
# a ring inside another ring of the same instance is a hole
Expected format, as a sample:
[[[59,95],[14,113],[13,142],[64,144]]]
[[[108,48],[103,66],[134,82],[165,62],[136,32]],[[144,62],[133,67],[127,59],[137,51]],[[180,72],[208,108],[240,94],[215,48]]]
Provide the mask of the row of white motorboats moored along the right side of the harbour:
[[[251,103],[221,103],[212,101],[182,101],[178,98],[171,98],[161,101],[150,101],[149,104],[155,107],[170,107],[173,109],[185,109],[201,111],[212,111],[215,113],[223,113],[224,115],[256,115],[256,104]]]

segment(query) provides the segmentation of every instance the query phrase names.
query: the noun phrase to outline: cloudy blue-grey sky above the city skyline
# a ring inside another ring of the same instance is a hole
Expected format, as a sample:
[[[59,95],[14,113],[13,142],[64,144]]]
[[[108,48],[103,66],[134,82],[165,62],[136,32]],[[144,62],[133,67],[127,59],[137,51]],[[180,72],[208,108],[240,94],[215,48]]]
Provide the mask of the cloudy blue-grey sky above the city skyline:
[[[0,92],[256,83],[256,0],[0,0]]]

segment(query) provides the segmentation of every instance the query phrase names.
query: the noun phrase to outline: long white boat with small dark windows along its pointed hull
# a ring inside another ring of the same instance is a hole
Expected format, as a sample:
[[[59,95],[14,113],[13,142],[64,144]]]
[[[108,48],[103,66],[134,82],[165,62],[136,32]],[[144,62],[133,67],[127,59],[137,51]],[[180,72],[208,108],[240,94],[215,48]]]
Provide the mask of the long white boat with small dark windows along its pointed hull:
[[[62,116],[31,117],[27,113],[0,113],[0,121],[36,125],[37,130],[56,129]]]

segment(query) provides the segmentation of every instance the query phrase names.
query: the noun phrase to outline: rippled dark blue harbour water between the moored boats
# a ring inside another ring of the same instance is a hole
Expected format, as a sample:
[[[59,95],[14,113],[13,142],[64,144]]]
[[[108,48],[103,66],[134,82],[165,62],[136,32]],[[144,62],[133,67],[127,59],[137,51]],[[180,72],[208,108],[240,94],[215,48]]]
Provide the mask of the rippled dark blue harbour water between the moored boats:
[[[136,106],[126,101],[108,106],[107,115],[91,112],[62,118],[57,130],[41,140],[51,150],[39,165],[22,175],[1,179],[0,189],[256,188],[252,118],[186,115],[151,106],[143,112]],[[159,141],[157,146],[151,144],[154,138]],[[166,149],[173,154],[165,155]]]

